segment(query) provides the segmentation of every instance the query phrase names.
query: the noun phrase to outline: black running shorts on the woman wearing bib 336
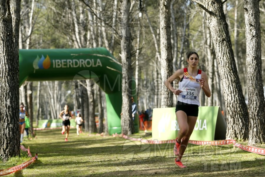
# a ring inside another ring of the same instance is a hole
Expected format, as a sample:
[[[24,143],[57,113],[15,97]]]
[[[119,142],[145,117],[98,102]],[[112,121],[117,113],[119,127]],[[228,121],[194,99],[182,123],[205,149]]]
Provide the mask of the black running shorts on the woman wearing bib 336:
[[[197,104],[187,104],[178,101],[175,112],[177,111],[184,111],[187,114],[187,116],[198,117],[199,106]]]

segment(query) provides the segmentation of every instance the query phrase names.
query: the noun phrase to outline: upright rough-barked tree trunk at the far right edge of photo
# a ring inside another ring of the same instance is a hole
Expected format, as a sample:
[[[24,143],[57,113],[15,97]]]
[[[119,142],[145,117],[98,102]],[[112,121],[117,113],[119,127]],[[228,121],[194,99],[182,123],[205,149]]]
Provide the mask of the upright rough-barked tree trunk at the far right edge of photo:
[[[265,100],[261,73],[259,0],[245,0],[246,68],[249,97],[249,144],[265,142]]]

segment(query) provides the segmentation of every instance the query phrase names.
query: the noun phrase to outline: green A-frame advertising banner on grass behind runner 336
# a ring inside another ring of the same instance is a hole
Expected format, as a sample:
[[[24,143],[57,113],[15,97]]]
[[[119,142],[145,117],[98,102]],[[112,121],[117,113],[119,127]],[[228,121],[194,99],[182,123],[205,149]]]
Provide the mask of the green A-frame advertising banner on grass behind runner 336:
[[[226,139],[226,121],[218,106],[201,106],[190,140],[213,141]],[[153,109],[152,139],[176,139],[178,122],[175,107]]]

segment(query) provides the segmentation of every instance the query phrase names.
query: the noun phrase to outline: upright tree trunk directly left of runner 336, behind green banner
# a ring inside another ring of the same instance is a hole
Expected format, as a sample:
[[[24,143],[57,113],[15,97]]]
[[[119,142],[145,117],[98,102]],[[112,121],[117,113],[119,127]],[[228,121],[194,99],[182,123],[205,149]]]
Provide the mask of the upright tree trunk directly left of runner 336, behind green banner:
[[[162,83],[173,73],[171,32],[170,32],[170,2],[159,1],[160,20],[160,51],[161,51],[161,79]],[[172,107],[173,93],[164,85],[161,88],[161,107]]]

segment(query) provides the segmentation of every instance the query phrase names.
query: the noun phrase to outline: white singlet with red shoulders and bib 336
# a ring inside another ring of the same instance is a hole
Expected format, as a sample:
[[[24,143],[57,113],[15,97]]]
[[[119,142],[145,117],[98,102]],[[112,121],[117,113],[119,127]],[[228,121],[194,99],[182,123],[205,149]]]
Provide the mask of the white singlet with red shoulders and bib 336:
[[[178,101],[200,106],[199,95],[201,91],[201,70],[198,70],[196,77],[189,75],[187,68],[184,68],[183,70],[184,76],[180,80],[178,87],[182,92],[178,96]]]

